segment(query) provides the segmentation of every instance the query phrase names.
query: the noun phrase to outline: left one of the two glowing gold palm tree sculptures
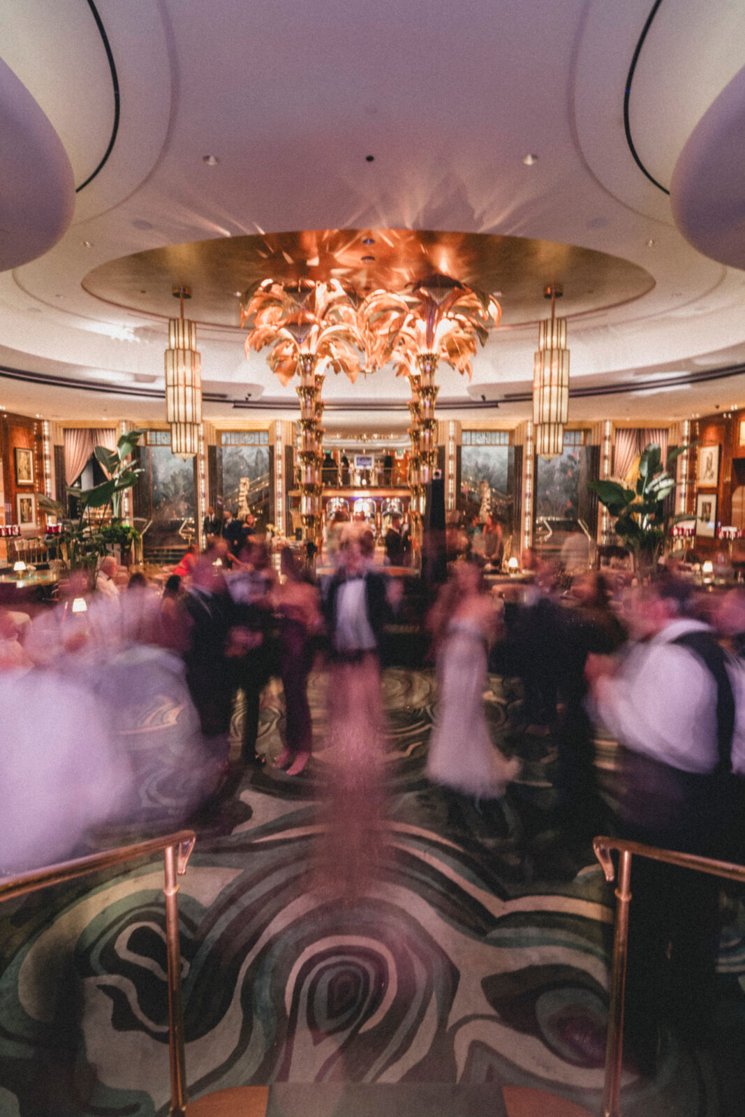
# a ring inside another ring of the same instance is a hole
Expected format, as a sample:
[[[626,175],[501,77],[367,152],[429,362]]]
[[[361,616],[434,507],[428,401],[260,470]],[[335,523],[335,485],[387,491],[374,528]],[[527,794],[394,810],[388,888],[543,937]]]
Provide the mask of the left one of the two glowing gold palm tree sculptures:
[[[273,279],[249,287],[241,298],[241,325],[247,326],[246,355],[270,346],[269,367],[283,384],[299,376],[300,442],[298,456],[300,516],[306,537],[321,526],[321,468],[324,404],[321,392],[325,372],[319,362],[357,379],[364,338],[360,332],[359,298],[337,279],[316,283],[298,279],[280,284]]]

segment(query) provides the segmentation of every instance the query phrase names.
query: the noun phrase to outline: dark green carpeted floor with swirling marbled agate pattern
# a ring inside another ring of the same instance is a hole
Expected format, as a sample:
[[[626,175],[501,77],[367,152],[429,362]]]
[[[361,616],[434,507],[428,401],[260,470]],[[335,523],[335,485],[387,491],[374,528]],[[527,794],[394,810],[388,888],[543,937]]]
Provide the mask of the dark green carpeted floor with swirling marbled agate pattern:
[[[491,677],[494,739],[520,755],[522,775],[504,814],[447,796],[424,777],[432,676],[386,670],[375,872],[363,885],[329,882],[316,856],[333,760],[324,686],[314,674],[317,748],[305,773],[247,770],[195,823],[180,892],[190,1096],[268,1087],[246,1113],[270,1117],[599,1113],[611,892],[591,851],[564,848],[548,829],[551,739],[508,734],[512,698]],[[147,716],[157,725],[156,709]],[[178,716],[161,720],[172,728]],[[268,758],[281,750],[283,716],[281,691],[268,688]],[[168,827],[179,779],[178,751],[160,747],[156,732],[145,743],[133,734],[132,747],[150,773],[150,822],[127,839]],[[601,767],[612,755],[601,743]],[[161,865],[4,906],[0,1117],[168,1113]],[[742,1083],[722,1085],[745,1033],[736,920],[719,970],[717,1051],[665,1035],[655,1081],[630,1066],[624,1075],[624,1117],[742,1113]],[[563,1101],[552,1110],[535,1090]]]

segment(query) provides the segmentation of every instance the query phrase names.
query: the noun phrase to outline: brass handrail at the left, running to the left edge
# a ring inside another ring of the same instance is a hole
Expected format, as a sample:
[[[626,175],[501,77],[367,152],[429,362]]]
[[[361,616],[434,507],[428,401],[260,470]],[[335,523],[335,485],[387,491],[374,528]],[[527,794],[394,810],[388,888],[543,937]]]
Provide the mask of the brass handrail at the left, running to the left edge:
[[[163,850],[165,861],[165,945],[168,952],[168,985],[169,985],[169,1053],[171,1062],[171,1108],[173,1117],[184,1117],[187,1113],[187,1077],[183,1056],[183,1014],[181,1010],[181,949],[179,946],[179,882],[187,871],[189,857],[194,848],[197,836],[193,830],[178,830],[175,833],[149,841],[136,842],[133,846],[120,846],[105,850],[103,853],[92,853],[89,857],[78,857],[73,861],[60,861],[42,869],[17,877],[0,879],[0,901],[26,896],[28,892],[48,888],[49,885],[60,885],[66,880],[75,880],[88,872],[99,869],[112,869],[139,857],[147,857]]]

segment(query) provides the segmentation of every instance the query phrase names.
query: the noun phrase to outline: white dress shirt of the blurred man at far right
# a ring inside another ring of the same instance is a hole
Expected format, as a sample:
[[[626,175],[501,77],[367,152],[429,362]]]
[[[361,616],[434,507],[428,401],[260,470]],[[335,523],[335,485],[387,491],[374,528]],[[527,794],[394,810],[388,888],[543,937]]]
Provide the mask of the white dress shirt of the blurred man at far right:
[[[647,643],[632,645],[618,674],[592,688],[596,717],[622,745],[682,772],[713,772],[719,760],[716,682],[695,652],[674,643],[701,631],[709,630],[700,621],[674,621]],[[745,667],[733,660],[728,674],[736,709],[733,767],[745,774]]]

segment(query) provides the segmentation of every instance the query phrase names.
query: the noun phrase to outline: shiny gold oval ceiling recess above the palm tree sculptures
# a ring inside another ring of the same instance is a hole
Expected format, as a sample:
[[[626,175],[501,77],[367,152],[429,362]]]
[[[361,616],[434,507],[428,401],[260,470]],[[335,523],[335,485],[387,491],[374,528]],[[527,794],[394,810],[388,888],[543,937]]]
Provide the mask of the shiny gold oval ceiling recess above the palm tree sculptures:
[[[579,317],[621,306],[655,286],[651,275],[617,256],[523,237],[411,229],[327,229],[171,245],[109,260],[83,280],[114,306],[172,317],[174,286],[191,288],[189,317],[240,327],[237,293],[261,279],[340,279],[360,294],[402,290],[440,271],[497,295],[502,328],[545,317],[544,288],[562,284],[561,313]]]

